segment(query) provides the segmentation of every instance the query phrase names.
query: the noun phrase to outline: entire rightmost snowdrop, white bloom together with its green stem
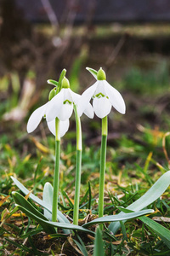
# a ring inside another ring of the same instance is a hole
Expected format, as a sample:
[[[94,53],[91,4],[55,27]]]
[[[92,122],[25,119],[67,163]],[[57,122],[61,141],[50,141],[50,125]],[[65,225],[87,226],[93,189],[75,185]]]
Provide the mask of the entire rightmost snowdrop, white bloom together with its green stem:
[[[107,115],[111,112],[111,107],[116,108],[120,113],[125,113],[126,106],[121,94],[106,81],[105,72],[102,68],[97,72],[92,68],[87,68],[94,75],[97,81],[82,93],[78,104],[78,113],[82,114],[85,106],[93,98],[94,113],[102,119],[102,140],[100,151],[99,168],[99,218],[104,214],[104,190],[105,190],[105,160],[107,146]]]

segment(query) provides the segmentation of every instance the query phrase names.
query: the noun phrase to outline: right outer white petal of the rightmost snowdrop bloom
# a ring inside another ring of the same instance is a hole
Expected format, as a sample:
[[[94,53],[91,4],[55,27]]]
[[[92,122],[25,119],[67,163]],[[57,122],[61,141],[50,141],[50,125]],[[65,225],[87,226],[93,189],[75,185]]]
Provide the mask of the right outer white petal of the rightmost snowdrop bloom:
[[[116,110],[120,113],[126,112],[126,106],[125,102],[122,98],[122,95],[116,90],[114,87],[111,86],[107,81],[105,81],[105,91],[107,96],[109,97],[109,100],[111,102],[111,105],[116,108]]]

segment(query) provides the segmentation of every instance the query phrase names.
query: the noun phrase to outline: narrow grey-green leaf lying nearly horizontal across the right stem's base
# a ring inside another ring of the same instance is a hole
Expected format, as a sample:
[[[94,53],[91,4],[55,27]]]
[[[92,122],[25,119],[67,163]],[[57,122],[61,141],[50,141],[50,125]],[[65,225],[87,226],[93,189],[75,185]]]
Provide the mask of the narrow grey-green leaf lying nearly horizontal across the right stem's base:
[[[149,214],[154,212],[152,209],[147,209],[139,212],[130,212],[130,213],[122,213],[122,214],[116,214],[116,215],[108,215],[101,218],[95,218],[94,220],[88,222],[87,224],[83,224],[82,227],[87,228],[90,225],[93,224],[99,224],[99,223],[105,223],[105,222],[112,222],[112,221],[121,221],[121,220],[127,220],[130,218],[138,218],[139,216]]]

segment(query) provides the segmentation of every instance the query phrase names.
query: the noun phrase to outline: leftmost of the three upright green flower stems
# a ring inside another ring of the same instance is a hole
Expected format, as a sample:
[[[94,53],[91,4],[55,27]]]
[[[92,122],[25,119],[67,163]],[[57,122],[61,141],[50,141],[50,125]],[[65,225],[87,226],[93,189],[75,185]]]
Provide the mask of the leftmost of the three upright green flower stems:
[[[55,167],[54,167],[54,195],[52,207],[52,221],[57,220],[57,208],[59,197],[59,160],[60,160],[60,134],[59,119],[55,119]]]

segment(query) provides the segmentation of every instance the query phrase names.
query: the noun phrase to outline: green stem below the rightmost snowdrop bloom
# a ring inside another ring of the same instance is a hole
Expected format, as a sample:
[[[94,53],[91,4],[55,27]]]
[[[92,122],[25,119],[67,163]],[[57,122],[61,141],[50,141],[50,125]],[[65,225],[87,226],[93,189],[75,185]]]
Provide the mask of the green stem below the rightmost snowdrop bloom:
[[[105,158],[107,145],[107,116],[102,119],[102,139],[99,169],[99,218],[104,215]]]

